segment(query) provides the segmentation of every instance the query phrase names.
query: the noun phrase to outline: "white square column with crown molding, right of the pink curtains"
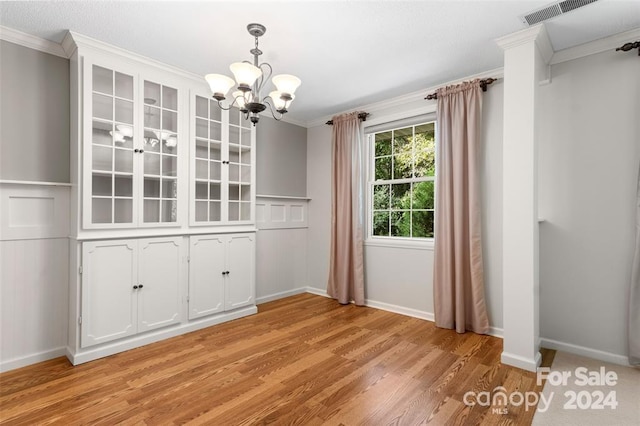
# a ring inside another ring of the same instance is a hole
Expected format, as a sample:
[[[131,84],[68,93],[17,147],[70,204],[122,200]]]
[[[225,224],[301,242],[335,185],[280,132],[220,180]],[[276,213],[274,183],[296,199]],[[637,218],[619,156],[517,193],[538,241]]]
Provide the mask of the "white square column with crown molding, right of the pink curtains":
[[[553,55],[544,24],[496,40],[504,50],[504,364],[540,365],[537,92]]]

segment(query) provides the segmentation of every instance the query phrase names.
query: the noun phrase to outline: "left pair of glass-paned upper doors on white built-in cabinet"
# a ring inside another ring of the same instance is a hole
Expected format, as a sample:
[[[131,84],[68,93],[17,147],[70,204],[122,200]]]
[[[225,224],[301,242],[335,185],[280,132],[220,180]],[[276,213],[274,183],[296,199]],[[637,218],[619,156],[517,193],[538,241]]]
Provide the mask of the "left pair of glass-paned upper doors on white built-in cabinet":
[[[187,90],[175,78],[85,58],[83,225],[177,225]]]

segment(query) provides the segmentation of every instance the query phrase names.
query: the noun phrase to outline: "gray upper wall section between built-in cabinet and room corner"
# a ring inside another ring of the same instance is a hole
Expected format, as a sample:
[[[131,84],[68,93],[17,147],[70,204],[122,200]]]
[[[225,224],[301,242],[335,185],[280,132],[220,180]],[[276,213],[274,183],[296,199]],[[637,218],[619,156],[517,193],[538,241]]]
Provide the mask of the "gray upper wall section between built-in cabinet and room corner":
[[[307,195],[307,129],[273,118],[258,123],[258,195]]]

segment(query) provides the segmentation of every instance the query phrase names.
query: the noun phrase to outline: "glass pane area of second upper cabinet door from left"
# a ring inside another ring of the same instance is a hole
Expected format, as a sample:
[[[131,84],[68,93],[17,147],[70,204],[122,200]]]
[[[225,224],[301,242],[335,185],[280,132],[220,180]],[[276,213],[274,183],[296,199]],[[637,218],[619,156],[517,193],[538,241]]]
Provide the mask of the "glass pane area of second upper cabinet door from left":
[[[178,221],[178,90],[143,82],[143,202],[145,224]]]

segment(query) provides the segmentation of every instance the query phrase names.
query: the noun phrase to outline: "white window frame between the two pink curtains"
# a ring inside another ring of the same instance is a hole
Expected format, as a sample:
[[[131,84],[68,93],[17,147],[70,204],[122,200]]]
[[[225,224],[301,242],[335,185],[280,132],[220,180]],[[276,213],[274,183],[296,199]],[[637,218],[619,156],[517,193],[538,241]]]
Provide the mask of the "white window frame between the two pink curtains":
[[[404,129],[407,127],[419,127],[424,124],[433,123],[434,125],[434,160],[435,160],[435,172],[433,176],[421,176],[421,177],[411,177],[411,178],[401,178],[401,179],[390,179],[382,181],[387,184],[401,184],[401,183],[418,183],[418,182],[433,182],[434,185],[434,232],[435,232],[435,212],[436,212],[436,181],[438,175],[438,167],[437,167],[437,150],[438,150],[438,120],[433,113],[433,111],[428,111],[427,113],[420,114],[416,116],[415,119],[406,120],[407,117],[402,117],[404,119],[394,121],[387,121],[387,123],[381,122],[377,125],[371,125],[369,128],[365,128],[365,144],[366,144],[366,181],[365,181],[365,191],[366,191],[366,238],[365,245],[367,246],[378,246],[378,247],[397,247],[397,248],[409,248],[409,249],[429,249],[433,250],[434,246],[434,237],[402,237],[402,236],[381,236],[373,234],[373,218],[374,211],[373,208],[373,189],[375,185],[379,185],[381,181],[375,180],[375,134],[383,133],[387,131]],[[374,123],[372,123],[374,124]],[[415,132],[415,130],[414,130]],[[390,155],[393,158],[393,153]],[[414,158],[415,160],[415,154]],[[389,209],[391,211],[391,209]],[[413,209],[411,209],[413,210]],[[413,220],[413,218],[412,218]]]

